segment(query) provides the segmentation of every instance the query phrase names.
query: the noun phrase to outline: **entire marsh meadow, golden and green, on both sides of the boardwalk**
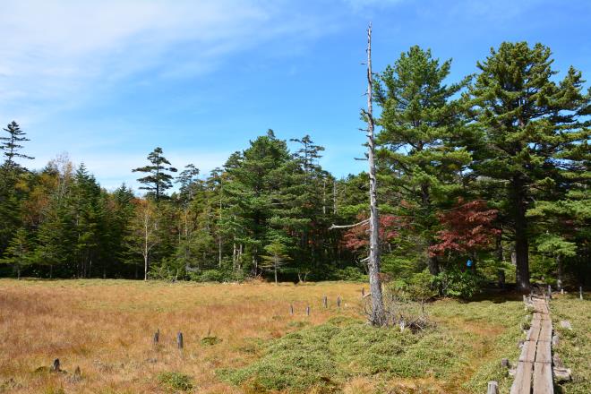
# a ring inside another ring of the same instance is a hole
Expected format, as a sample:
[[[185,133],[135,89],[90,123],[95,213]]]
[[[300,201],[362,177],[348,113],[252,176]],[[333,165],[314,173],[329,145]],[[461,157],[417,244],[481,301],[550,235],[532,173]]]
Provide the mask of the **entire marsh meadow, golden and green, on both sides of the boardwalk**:
[[[500,362],[518,357],[520,297],[429,304],[433,329],[412,334],[365,325],[362,286],[0,279],[0,392],[448,394],[484,392],[492,379],[509,390]],[[552,301],[552,313],[575,301]],[[576,374],[569,393],[588,392],[588,311],[577,307],[561,342]],[[70,373],[35,373],[56,357]],[[175,388],[182,377],[192,388]]]

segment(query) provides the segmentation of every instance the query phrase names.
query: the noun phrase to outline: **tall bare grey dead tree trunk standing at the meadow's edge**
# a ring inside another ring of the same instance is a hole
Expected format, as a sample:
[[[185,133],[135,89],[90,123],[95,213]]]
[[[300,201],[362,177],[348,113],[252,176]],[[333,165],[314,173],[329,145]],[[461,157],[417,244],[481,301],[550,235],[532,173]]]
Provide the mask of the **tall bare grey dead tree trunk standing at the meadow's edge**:
[[[386,323],[386,314],[381,296],[380,281],[380,220],[378,218],[377,179],[375,176],[375,141],[373,139],[373,73],[372,73],[372,24],[367,28],[367,153],[369,159],[370,178],[370,253],[369,253],[369,281],[372,292],[372,315],[370,321],[373,325],[382,326]]]

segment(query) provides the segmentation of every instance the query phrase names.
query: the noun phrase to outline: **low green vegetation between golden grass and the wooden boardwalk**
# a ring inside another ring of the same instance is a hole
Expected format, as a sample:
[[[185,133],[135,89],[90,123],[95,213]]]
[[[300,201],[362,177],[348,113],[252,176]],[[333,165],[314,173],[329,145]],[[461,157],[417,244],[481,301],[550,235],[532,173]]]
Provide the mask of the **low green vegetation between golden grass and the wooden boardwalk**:
[[[373,383],[363,392],[398,386],[392,392],[483,392],[492,379],[510,386],[500,361],[518,355],[522,304],[446,300],[433,304],[431,313],[438,324],[415,334],[333,318],[271,341],[253,364],[218,374],[249,392],[333,392],[364,378]],[[409,383],[425,379],[432,391]]]

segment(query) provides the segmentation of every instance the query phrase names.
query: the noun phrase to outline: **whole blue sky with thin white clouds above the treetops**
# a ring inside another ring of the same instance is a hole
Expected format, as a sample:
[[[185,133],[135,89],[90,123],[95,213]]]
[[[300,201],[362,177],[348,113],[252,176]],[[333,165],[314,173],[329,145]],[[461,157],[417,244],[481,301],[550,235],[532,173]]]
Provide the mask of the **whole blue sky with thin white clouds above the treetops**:
[[[208,172],[269,128],[311,134],[336,176],[364,169],[369,21],[376,72],[418,44],[458,81],[527,40],[591,78],[585,0],[0,0],[0,14],[0,124],[28,133],[29,167],[65,151],[107,189],[136,187],[156,146]]]

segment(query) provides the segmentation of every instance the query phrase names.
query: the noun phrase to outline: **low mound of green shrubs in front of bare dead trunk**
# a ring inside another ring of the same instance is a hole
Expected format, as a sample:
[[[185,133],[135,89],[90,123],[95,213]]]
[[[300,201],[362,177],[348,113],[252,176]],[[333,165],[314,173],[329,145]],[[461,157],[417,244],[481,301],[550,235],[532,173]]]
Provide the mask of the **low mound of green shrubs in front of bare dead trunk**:
[[[272,341],[253,364],[220,370],[218,375],[256,392],[338,390],[353,376],[378,373],[402,378],[447,377],[466,364],[465,349],[460,345],[442,330],[413,334],[340,317]]]

